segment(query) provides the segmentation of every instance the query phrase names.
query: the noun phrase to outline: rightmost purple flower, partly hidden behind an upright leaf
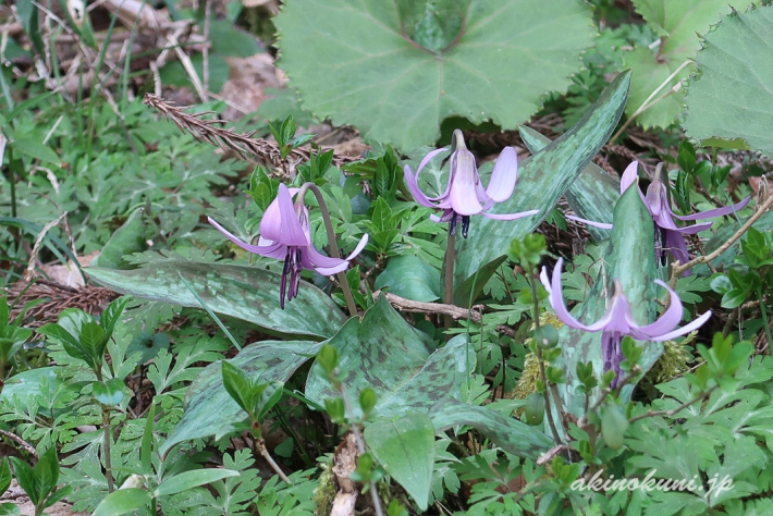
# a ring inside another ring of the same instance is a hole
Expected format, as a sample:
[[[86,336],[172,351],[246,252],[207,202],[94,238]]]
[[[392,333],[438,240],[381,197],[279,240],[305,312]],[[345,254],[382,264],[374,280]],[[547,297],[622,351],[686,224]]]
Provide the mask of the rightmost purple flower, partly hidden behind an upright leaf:
[[[619,182],[619,191],[623,194],[630,185],[636,182],[638,161],[634,161],[625,169],[623,176]],[[672,211],[668,205],[668,195],[666,185],[662,182],[655,180],[647,187],[647,195],[641,193],[639,189],[639,195],[641,200],[647,206],[650,214],[652,216],[652,221],[655,224],[655,254],[657,258],[661,265],[665,265],[665,253],[664,250],[671,251],[671,256],[675,260],[679,260],[679,263],[685,265],[690,260],[687,254],[687,244],[685,243],[684,235],[695,235],[703,230],[711,228],[713,222],[703,222],[702,224],[688,225],[685,228],[678,228],[674,222],[674,219],[678,220],[702,220],[702,219],[713,219],[715,217],[722,217],[726,214],[734,213],[743,209],[749,204],[751,197],[737,202],[733,206],[726,208],[716,208],[709,211],[701,211],[700,213],[695,213],[691,216],[677,216]],[[689,275],[689,271],[685,272],[685,275]]]

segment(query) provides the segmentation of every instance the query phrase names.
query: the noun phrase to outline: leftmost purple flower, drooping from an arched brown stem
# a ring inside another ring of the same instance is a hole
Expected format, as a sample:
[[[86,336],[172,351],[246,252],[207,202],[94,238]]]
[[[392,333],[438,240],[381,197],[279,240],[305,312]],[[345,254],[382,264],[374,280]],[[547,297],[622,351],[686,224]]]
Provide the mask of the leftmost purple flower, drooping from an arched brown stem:
[[[298,188],[287,189],[285,185],[279,185],[277,198],[269,205],[263,218],[260,220],[258,245],[249,245],[242,242],[214,220],[207,218],[210,224],[244,250],[284,260],[280,285],[280,305],[282,309],[284,309],[285,291],[287,291],[289,302],[298,295],[300,271],[314,269],[323,275],[342,272],[346,270],[349,261],[359,255],[368,243],[366,233],[345,260],[321,255],[311,244],[308,209],[302,200],[293,205],[292,196],[297,192]],[[290,288],[287,288],[287,275],[290,275]]]

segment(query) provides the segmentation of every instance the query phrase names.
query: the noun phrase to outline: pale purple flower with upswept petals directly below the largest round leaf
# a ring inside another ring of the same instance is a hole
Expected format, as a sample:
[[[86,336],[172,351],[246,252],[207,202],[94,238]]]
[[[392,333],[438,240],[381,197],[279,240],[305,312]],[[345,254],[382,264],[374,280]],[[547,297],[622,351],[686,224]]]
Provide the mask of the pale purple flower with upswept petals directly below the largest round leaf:
[[[445,150],[445,148],[435,149],[425,156],[419,168],[416,169],[416,174],[407,164],[403,172],[405,184],[416,202],[428,208],[443,210],[440,217],[433,214],[430,218],[434,222],[449,222],[450,234],[456,234],[456,225],[461,221],[462,235],[466,238],[469,231],[469,218],[474,214],[482,214],[495,220],[515,220],[539,212],[539,210],[529,210],[520,213],[487,213],[495,202],[503,202],[513,195],[515,181],[518,176],[518,155],[513,147],[505,147],[496,159],[489,186],[483,189],[478,168],[475,164],[475,156],[467,150],[459,130],[454,131],[449,184],[445,192],[435,197],[425,195],[419,189],[419,174],[432,158]]]

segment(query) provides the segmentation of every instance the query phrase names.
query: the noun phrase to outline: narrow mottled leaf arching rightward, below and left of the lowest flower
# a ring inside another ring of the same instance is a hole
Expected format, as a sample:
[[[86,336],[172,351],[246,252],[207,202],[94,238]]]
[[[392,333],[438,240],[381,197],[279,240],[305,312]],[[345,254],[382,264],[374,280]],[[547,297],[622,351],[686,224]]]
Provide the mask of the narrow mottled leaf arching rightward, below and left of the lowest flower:
[[[467,425],[502,450],[532,460],[554,445],[551,438],[525,422],[505,417],[491,408],[467,405],[454,398],[442,400],[433,406],[430,418],[435,432]]]

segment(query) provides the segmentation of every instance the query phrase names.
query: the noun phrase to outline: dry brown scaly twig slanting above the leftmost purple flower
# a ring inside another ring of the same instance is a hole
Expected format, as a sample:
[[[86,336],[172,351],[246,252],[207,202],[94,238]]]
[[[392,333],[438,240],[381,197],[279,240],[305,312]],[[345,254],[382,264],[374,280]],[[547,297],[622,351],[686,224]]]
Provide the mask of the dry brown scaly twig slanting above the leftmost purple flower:
[[[225,123],[222,120],[205,120],[203,116],[211,114],[211,111],[203,113],[186,113],[189,107],[176,107],[167,103],[162,98],[147,94],[145,105],[154,108],[163,114],[168,120],[174,122],[181,131],[191,133],[199,142],[220,147],[223,150],[232,150],[241,159],[251,163],[268,163],[277,169],[284,169],[287,162],[299,162],[309,159],[309,150],[293,149],[286,160],[282,159],[279,147],[273,142],[254,138],[255,133],[236,133],[233,128],[223,128],[220,125]],[[256,159],[257,158],[257,159]],[[349,156],[333,156],[333,164],[342,167],[359,158]]]

